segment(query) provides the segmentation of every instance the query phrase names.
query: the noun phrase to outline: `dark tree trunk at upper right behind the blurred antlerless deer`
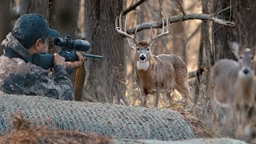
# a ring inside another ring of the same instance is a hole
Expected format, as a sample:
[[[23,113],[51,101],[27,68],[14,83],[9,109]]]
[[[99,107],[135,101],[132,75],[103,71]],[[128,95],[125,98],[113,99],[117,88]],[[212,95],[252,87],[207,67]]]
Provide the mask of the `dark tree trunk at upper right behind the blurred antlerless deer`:
[[[214,24],[213,42],[214,42],[214,61],[221,58],[234,58],[231,54],[228,42],[236,41],[243,48],[255,46],[256,33],[256,3],[254,0],[219,0],[216,6],[216,12],[232,6],[230,10],[223,11],[220,17],[225,20],[235,22],[235,28],[227,28]]]

